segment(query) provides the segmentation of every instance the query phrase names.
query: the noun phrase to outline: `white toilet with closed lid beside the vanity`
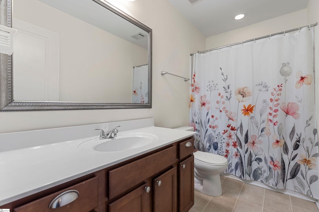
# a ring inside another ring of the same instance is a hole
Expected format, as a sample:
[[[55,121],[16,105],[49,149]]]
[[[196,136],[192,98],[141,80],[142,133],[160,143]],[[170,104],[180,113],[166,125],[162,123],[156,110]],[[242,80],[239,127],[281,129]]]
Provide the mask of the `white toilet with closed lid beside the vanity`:
[[[192,127],[179,127],[178,130],[193,131]],[[210,152],[194,152],[194,187],[195,190],[209,196],[222,195],[219,174],[226,170],[227,159]]]

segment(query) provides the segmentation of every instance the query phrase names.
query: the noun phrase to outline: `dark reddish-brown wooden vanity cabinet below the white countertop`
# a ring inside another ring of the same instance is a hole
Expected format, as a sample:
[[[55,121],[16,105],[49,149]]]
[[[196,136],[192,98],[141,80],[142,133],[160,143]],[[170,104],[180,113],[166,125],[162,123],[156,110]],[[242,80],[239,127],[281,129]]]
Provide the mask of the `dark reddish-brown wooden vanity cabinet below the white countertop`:
[[[194,204],[193,138],[0,206],[11,212],[187,212]],[[50,202],[77,190],[57,209]]]

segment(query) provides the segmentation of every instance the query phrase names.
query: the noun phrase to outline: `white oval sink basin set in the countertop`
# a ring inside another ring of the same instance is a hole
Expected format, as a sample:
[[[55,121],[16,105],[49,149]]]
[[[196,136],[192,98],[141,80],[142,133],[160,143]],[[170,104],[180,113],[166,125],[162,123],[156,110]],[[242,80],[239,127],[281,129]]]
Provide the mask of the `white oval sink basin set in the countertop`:
[[[80,144],[80,147],[93,148],[96,151],[125,151],[129,149],[145,146],[154,141],[157,141],[158,137],[153,134],[146,133],[123,133],[118,134],[117,137],[112,139],[94,138],[87,140]]]

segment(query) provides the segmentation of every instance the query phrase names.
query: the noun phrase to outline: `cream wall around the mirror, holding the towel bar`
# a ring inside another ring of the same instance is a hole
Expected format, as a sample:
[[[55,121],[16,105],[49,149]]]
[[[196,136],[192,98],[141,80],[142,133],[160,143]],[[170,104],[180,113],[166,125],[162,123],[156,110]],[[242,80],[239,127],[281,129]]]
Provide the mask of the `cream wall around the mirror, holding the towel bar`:
[[[149,117],[160,127],[188,125],[190,82],[160,71],[189,77],[189,54],[205,49],[205,37],[166,0],[109,2],[153,29],[152,109],[1,112],[0,133]]]

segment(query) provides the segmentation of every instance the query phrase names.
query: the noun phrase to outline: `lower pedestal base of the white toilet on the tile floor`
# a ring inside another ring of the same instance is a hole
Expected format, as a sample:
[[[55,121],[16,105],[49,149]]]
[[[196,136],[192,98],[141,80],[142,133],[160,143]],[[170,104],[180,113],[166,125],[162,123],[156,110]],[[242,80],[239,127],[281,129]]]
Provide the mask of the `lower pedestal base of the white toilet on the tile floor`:
[[[201,183],[202,182],[202,183]],[[194,179],[194,188],[196,191],[199,191],[200,193],[218,197],[223,194],[221,189],[221,182],[220,182],[220,176],[214,175],[209,176],[209,179]]]

